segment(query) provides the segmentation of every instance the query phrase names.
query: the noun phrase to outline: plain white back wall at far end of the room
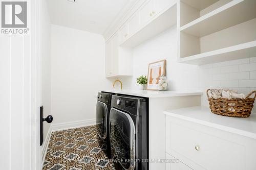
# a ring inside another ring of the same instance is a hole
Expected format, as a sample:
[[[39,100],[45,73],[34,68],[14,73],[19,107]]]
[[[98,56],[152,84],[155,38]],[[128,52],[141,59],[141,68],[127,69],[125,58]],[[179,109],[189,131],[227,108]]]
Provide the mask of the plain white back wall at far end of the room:
[[[52,25],[53,124],[95,119],[97,92],[105,79],[103,36]]]

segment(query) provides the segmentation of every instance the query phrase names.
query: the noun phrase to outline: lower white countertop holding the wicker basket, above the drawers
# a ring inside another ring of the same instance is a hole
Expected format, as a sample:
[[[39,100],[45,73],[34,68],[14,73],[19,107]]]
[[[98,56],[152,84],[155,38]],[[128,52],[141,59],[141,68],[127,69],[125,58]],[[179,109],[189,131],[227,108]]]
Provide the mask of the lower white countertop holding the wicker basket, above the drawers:
[[[211,113],[206,106],[196,106],[164,111],[164,114],[256,139],[255,113],[247,118],[227,117]]]

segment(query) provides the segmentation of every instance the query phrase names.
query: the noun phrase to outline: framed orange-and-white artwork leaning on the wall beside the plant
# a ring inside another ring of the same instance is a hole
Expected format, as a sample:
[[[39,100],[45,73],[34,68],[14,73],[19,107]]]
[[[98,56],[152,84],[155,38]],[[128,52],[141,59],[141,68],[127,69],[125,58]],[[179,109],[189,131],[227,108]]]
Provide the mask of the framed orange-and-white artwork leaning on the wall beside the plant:
[[[161,75],[165,76],[166,60],[148,64],[147,90],[158,90],[158,81]]]

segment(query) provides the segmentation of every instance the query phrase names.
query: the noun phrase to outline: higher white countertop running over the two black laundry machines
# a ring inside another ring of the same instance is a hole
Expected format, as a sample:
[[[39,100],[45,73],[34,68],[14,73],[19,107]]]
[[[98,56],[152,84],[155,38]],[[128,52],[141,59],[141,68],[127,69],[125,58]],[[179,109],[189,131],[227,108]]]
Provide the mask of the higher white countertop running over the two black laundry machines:
[[[174,97],[174,96],[187,96],[187,95],[202,95],[201,91],[154,91],[154,90],[117,90],[117,89],[109,89],[109,90],[100,90],[105,92],[112,92],[118,94],[126,94],[126,95],[135,95],[141,96],[144,98],[165,98],[165,97]]]

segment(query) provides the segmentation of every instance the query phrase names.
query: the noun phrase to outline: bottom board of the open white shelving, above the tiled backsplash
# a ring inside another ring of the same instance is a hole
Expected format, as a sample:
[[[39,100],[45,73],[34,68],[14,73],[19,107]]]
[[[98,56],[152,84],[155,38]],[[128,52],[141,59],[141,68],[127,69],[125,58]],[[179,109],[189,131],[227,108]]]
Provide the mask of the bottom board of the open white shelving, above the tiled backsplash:
[[[202,65],[241,58],[255,57],[256,41],[233,45],[218,50],[180,58],[179,62]]]

